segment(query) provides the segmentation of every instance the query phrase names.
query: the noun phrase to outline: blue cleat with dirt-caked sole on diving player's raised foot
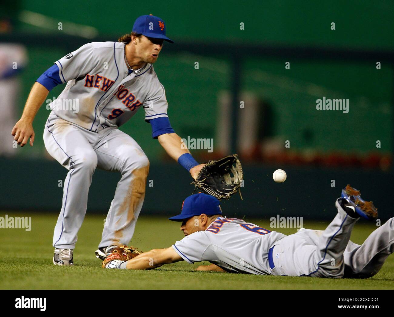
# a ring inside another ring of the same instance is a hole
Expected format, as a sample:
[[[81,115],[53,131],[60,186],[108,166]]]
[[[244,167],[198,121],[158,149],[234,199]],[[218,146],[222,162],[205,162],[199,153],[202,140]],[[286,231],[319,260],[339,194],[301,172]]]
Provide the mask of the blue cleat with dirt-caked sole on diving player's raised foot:
[[[342,205],[350,208],[359,216],[371,220],[377,218],[377,208],[372,201],[364,201],[360,191],[351,187],[349,184],[342,190],[342,198],[345,200]]]

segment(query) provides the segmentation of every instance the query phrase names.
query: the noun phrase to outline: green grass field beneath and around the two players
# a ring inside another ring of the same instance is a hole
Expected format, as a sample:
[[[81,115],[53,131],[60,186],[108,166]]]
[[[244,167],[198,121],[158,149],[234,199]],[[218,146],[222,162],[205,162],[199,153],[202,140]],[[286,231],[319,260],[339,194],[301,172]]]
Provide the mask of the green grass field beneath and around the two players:
[[[164,265],[151,271],[105,270],[94,251],[100,241],[104,216],[87,215],[78,234],[73,267],[52,264],[52,234],[55,214],[2,212],[9,216],[32,217],[32,230],[0,229],[1,289],[394,289],[394,256],[372,278],[323,279],[289,276],[257,276],[201,272],[201,264]],[[268,220],[247,219],[269,228]],[[304,219],[305,228],[324,229],[327,223]],[[375,229],[356,224],[351,240],[362,243]],[[296,229],[278,230],[292,234]],[[182,239],[179,223],[165,217],[140,217],[132,245],[142,251],[164,248]]]

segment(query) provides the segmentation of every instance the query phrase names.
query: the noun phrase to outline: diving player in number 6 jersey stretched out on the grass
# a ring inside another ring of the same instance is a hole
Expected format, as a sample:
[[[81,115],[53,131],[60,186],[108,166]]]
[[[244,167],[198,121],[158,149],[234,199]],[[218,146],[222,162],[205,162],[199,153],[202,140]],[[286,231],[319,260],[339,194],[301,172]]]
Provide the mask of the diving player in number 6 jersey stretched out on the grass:
[[[381,269],[394,251],[394,217],[357,245],[349,240],[359,217],[374,219],[372,202],[361,199],[349,185],[336,200],[338,213],[323,230],[302,229],[286,236],[242,219],[223,217],[219,201],[206,194],[187,197],[180,215],[185,238],[167,249],[154,249],[124,261],[112,253],[103,267],[153,269],[185,260],[209,261],[198,270],[256,275],[368,278]]]

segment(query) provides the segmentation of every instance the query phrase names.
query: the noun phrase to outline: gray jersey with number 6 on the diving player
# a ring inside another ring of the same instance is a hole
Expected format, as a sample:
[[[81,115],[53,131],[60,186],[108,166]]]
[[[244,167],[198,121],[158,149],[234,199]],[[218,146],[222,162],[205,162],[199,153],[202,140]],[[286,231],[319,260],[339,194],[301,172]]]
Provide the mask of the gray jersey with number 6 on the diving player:
[[[172,247],[186,262],[209,261],[234,273],[270,274],[269,247],[285,235],[242,219],[218,217]]]

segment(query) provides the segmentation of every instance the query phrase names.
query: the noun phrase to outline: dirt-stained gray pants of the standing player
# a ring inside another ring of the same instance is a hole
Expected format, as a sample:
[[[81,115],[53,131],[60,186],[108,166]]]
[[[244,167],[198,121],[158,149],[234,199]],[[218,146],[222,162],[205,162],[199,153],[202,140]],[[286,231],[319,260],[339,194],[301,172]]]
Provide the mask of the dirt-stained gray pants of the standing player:
[[[52,112],[45,125],[44,143],[48,153],[69,170],[53,246],[74,249],[96,168],[121,173],[99,247],[128,244],[143,205],[149,173],[149,160],[137,142],[115,127],[100,126],[98,132],[92,132]],[[105,184],[102,190],[107,190]]]

